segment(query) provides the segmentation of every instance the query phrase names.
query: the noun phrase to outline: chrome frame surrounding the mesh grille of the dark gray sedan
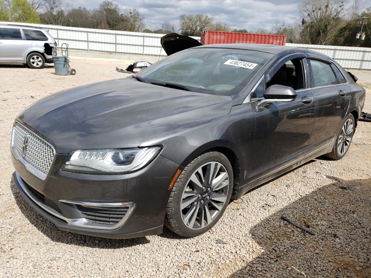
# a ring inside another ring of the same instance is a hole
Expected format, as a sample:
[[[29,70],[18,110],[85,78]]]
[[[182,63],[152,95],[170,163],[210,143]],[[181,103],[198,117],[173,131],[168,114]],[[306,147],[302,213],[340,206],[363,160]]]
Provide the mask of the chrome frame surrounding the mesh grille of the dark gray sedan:
[[[33,166],[31,163],[29,163],[22,156],[22,154],[16,149],[16,147],[14,146],[14,132],[15,132],[14,128],[15,128],[15,124],[16,123],[18,123],[19,125],[23,126],[23,128],[27,129],[30,133],[34,134],[35,136],[37,136],[38,138],[40,138],[41,140],[43,140],[47,145],[49,145],[53,149],[54,156],[53,156],[52,163],[50,164],[50,167],[49,167],[49,170],[47,171],[47,173],[44,173],[44,172],[40,171],[35,166]],[[42,181],[44,181],[46,179],[47,174],[49,173],[50,168],[52,168],[52,165],[53,165],[54,160],[55,160],[55,157],[56,157],[56,151],[55,151],[55,148],[53,147],[52,144],[50,144],[49,142],[47,142],[44,138],[42,138],[41,136],[37,135],[35,132],[33,132],[32,130],[30,130],[29,128],[27,128],[25,125],[23,125],[22,123],[20,123],[18,121],[15,121],[13,123],[12,140],[11,140],[11,143],[10,143],[10,150],[12,151],[12,153],[14,155],[14,158],[17,159],[17,160],[19,160],[24,165],[24,167],[26,168],[27,171],[29,171],[33,175],[37,176],[37,178],[41,179]]]

